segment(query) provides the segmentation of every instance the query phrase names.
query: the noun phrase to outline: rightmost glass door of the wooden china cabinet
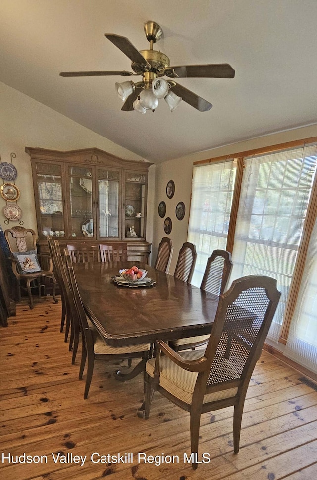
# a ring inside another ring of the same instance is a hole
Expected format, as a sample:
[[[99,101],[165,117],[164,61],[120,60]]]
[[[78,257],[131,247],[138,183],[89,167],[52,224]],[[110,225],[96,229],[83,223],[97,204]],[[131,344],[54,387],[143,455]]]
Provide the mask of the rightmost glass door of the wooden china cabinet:
[[[146,176],[125,173],[124,235],[126,238],[144,237]]]

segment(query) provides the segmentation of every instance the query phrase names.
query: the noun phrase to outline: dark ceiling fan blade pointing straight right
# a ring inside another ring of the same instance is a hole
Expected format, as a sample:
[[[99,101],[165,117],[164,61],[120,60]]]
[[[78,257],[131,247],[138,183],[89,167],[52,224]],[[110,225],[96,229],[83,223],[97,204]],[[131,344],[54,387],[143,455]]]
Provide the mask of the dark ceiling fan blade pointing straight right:
[[[233,78],[235,70],[229,64],[183,65],[169,67],[179,78]]]

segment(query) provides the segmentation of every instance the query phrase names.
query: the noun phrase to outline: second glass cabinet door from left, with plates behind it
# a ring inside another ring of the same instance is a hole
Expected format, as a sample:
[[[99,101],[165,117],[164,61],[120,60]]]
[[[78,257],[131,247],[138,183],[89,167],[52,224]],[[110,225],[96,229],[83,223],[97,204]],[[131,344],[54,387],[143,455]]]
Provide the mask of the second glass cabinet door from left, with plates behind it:
[[[94,236],[92,169],[68,167],[70,237]]]

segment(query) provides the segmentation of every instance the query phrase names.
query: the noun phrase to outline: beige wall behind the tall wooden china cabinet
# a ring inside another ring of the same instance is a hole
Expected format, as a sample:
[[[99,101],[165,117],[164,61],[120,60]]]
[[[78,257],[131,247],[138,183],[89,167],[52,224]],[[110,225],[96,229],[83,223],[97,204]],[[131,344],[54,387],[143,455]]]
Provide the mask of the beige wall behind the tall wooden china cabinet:
[[[54,150],[76,150],[97,147],[106,152],[130,160],[141,157],[129,150],[101,137],[91,130],[79,125],[51,108],[37,102],[23,93],[0,83],[0,154],[2,162],[13,159],[18,175],[15,184],[20,189],[18,206],[22,209],[24,226],[36,227],[35,204],[31,176],[30,157],[24,149],[40,147]],[[154,180],[150,173],[150,184]],[[1,181],[2,179],[0,179]],[[153,204],[153,188],[149,192],[150,205]],[[0,197],[0,224],[3,230],[17,225],[17,222],[4,223],[3,207],[5,200]],[[149,215],[149,231],[152,231],[152,215]]]

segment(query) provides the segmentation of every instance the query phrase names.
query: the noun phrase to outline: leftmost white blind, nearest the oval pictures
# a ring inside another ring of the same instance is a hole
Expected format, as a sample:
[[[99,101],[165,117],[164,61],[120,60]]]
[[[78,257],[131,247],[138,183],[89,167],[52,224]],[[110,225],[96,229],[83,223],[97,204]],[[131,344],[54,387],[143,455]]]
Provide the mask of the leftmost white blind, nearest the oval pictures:
[[[213,250],[226,249],[235,170],[233,160],[194,167],[187,239],[196,245],[191,283],[198,287]]]

